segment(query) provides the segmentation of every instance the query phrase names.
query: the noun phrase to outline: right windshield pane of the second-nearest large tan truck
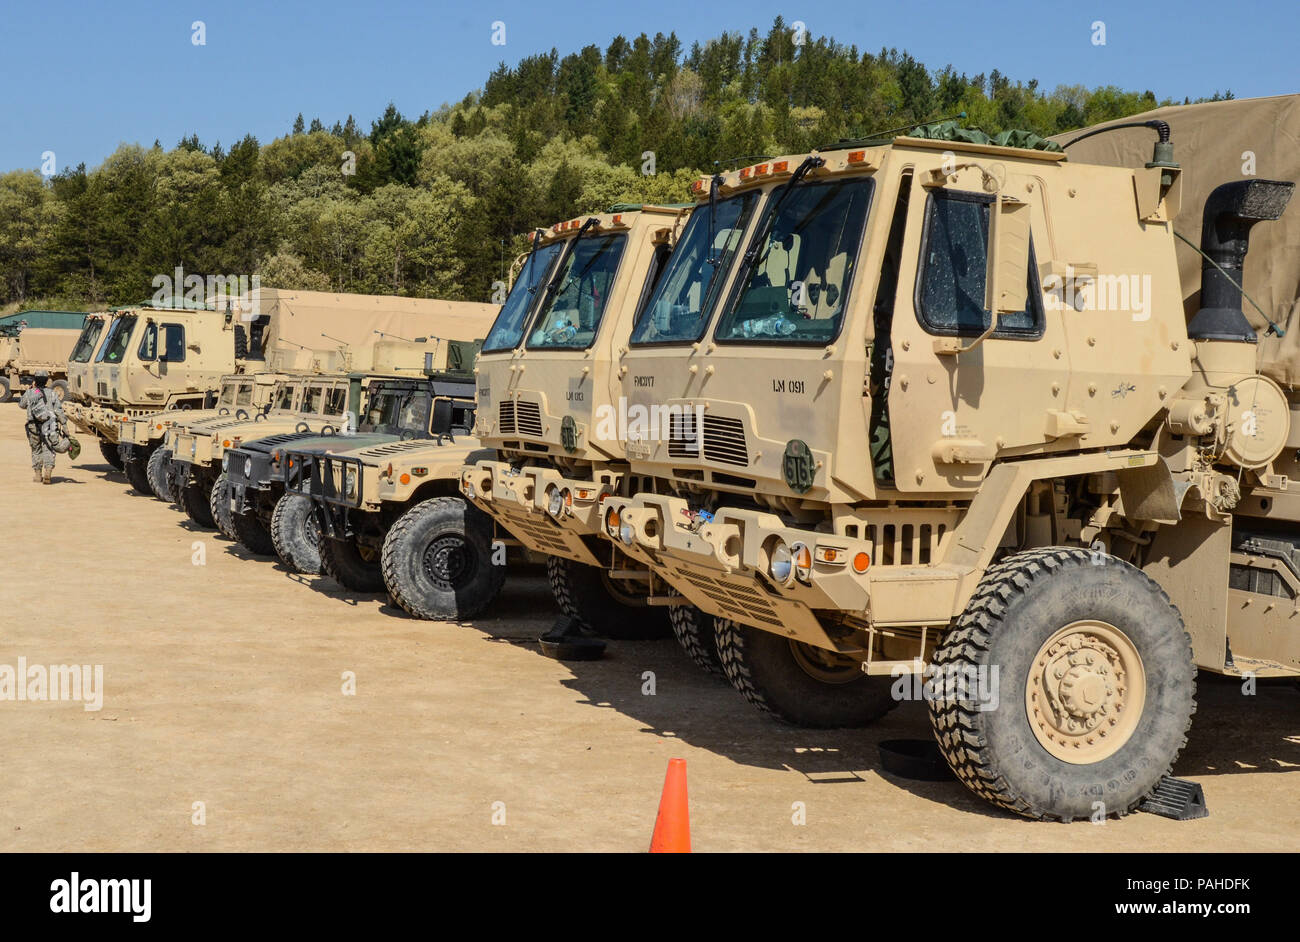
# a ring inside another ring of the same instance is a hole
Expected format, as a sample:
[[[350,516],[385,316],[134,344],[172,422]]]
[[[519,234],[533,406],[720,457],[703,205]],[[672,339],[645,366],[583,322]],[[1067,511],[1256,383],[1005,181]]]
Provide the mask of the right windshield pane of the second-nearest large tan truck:
[[[537,314],[529,348],[592,346],[627,244],[628,236],[618,233],[578,240],[556,275],[559,287]]]

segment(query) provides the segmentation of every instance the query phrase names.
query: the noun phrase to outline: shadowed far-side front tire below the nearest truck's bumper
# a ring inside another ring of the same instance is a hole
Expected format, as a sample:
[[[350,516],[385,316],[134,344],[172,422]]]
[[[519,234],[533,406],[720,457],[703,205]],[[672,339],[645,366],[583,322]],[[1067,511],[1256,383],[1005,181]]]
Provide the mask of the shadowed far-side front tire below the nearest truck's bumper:
[[[859,661],[772,631],[716,618],[727,680],[759,709],[796,726],[854,729],[898,702],[893,678],[863,673]]]

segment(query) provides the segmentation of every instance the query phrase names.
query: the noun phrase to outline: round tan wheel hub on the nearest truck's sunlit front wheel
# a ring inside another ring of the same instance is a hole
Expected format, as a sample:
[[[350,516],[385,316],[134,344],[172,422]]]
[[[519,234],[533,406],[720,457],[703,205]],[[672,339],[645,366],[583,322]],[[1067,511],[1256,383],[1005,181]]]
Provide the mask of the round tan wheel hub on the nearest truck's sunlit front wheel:
[[[1147,678],[1128,637],[1076,621],[1039,648],[1024,689],[1030,726],[1057,759],[1087,765],[1113,755],[1141,717]]]

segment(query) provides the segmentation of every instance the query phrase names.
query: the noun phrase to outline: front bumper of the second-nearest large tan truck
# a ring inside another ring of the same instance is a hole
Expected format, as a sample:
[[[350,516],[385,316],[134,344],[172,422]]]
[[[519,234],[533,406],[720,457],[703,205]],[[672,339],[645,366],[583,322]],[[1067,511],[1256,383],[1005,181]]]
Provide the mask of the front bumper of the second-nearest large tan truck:
[[[555,468],[512,468],[480,461],[460,473],[460,492],[486,512],[526,550],[604,566],[589,543],[601,534],[602,496],[616,481],[594,483],[566,478]]]

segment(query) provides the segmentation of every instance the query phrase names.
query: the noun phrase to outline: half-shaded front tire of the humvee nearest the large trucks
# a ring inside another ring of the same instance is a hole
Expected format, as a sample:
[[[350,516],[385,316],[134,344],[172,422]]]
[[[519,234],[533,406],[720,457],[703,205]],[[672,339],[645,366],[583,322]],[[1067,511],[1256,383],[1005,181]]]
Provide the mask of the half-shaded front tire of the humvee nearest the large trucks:
[[[403,513],[384,538],[384,585],[410,615],[462,621],[500,594],[491,517],[460,498],[430,498]]]

